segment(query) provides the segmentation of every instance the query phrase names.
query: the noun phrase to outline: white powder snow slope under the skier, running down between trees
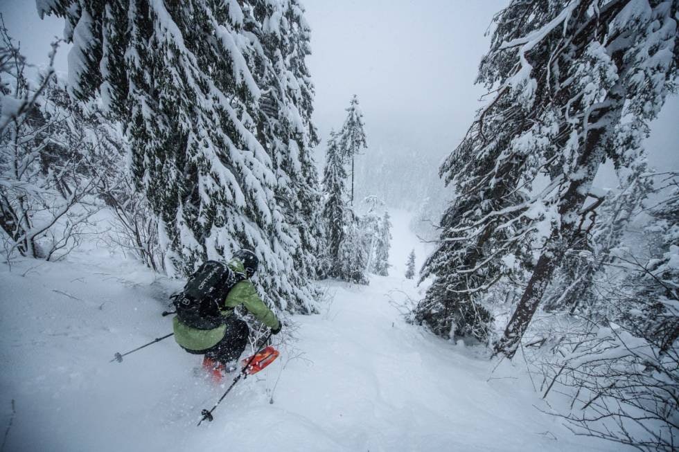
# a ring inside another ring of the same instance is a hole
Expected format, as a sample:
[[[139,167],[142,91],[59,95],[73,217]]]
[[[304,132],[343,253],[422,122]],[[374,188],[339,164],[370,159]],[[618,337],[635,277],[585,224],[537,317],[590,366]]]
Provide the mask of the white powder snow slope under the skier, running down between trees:
[[[94,245],[0,264],[2,452],[620,450],[536,410],[520,366],[500,378],[475,350],[403,322],[389,300],[418,297],[401,275],[410,249],[418,265],[425,250],[406,213],[393,219],[394,276],[325,284],[321,314],[296,316],[281,359],[200,427],[223,392],[194,375],[200,357],[170,338],[108,362],[171,331],[159,314],[180,282]]]

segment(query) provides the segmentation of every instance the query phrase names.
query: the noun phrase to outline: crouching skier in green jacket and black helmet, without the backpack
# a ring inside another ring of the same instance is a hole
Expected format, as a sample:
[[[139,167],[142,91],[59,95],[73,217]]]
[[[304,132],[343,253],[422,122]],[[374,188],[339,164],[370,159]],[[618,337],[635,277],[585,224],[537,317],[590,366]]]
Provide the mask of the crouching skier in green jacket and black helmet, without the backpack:
[[[249,328],[247,323],[234,314],[239,305],[245,306],[257,320],[271,328],[272,334],[281,332],[281,322],[257,295],[249,280],[257,271],[259,260],[249,250],[236,252],[227,266],[244,279],[237,282],[220,305],[223,324],[213,329],[190,327],[175,316],[173,329],[175,341],[189,353],[204,354],[203,368],[211,374],[215,382],[220,382],[224,372],[236,370],[235,361],[245,350]]]

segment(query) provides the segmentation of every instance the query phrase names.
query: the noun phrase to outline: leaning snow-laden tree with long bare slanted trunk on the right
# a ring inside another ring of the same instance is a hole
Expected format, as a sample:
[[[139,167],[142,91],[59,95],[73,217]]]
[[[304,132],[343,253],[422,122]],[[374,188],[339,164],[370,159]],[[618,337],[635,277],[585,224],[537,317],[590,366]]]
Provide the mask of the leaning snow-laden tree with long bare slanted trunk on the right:
[[[497,96],[519,90],[523,102],[533,105],[536,123],[551,129],[543,137],[544,149],[540,143],[529,147],[533,167],[554,187],[531,202],[529,218],[542,225],[532,237],[540,257],[495,353],[513,356],[554,270],[583,239],[590,211],[585,201],[601,162],[634,161],[649,122],[675,89],[678,6],[676,1],[535,1],[528,17],[537,20],[528,24],[514,20],[527,17],[524,2],[500,13],[493,51],[486,57],[495,61],[495,80],[502,84]],[[520,138],[529,139],[517,129]]]

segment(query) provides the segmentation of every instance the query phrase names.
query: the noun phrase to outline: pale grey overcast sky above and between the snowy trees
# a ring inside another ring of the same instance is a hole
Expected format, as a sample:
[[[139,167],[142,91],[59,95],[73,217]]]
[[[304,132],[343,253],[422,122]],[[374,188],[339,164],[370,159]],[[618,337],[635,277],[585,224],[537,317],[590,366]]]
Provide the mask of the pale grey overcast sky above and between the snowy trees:
[[[306,0],[308,64],[321,138],[340,127],[357,94],[369,147],[445,156],[473,120],[483,93],[473,82],[488,49],[484,32],[507,0]],[[0,0],[0,12],[30,60],[44,62],[63,21],[37,17],[32,0]],[[67,70],[67,46],[57,67]],[[679,169],[679,98],[673,96],[646,143],[658,168]],[[321,147],[323,145],[321,144]]]

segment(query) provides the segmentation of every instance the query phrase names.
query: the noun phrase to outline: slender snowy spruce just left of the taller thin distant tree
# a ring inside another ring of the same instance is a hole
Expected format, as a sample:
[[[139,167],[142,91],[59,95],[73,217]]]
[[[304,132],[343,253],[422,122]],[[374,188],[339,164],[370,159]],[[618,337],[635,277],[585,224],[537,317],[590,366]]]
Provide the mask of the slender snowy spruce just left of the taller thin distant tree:
[[[326,167],[323,172],[323,223],[326,227],[326,256],[324,271],[331,278],[340,278],[340,245],[344,242],[346,224],[346,171],[337,145],[337,135],[330,131],[326,149]]]

